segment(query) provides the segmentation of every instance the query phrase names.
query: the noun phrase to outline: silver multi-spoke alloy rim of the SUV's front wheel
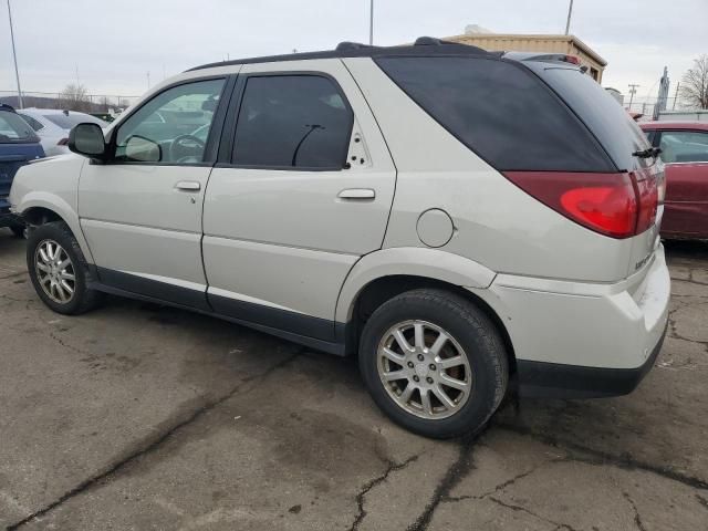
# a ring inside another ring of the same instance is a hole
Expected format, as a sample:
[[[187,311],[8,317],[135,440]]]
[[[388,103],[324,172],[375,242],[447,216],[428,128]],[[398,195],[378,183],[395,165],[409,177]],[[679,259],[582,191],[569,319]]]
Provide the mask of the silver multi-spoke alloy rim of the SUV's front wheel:
[[[66,304],[76,290],[74,264],[62,246],[54,240],[42,240],[34,251],[34,270],[46,296]]]

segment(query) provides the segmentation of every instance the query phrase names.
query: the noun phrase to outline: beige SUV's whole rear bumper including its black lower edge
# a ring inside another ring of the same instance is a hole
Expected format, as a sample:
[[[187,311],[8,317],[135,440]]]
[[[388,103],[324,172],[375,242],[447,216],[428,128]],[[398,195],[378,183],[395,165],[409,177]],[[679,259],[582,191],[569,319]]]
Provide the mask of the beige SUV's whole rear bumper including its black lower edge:
[[[629,393],[654,366],[670,279],[658,246],[641,271],[616,283],[499,274],[476,293],[507,327],[521,395],[600,397]]]

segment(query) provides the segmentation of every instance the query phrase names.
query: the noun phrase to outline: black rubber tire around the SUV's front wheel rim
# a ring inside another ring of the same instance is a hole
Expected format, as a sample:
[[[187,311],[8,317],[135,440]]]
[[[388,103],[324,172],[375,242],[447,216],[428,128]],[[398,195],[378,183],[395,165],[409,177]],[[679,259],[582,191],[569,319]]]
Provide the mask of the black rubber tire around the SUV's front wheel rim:
[[[41,285],[35,257],[38,247],[48,240],[59,243],[71,259],[73,266],[73,294],[66,302],[52,300]],[[88,284],[96,279],[93,278],[74,235],[63,221],[44,223],[30,232],[27,242],[27,267],[37,294],[44,304],[58,313],[79,315],[93,309],[102,299],[103,294],[101,292],[88,288]]]

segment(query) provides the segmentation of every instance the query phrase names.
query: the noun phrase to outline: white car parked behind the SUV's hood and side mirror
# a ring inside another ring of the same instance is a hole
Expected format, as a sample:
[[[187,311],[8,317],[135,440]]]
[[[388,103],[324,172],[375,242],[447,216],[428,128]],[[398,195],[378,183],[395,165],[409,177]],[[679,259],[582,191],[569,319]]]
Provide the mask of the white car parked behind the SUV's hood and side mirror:
[[[107,127],[108,123],[86,113],[61,111],[56,108],[22,108],[17,113],[24,118],[40,137],[48,157],[69,153],[69,132],[81,123],[97,124]]]

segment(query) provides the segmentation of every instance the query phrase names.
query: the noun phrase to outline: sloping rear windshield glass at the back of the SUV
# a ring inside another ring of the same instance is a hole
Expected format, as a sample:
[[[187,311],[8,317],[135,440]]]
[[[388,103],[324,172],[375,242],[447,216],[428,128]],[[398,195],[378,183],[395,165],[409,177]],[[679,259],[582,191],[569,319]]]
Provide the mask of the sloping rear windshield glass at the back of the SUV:
[[[632,156],[646,149],[649,143],[629,114],[589,75],[577,69],[549,66],[548,63],[527,63],[543,79],[600,139],[621,170],[631,170],[650,159]]]

